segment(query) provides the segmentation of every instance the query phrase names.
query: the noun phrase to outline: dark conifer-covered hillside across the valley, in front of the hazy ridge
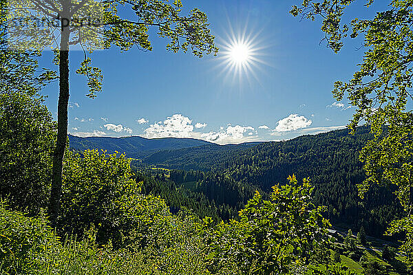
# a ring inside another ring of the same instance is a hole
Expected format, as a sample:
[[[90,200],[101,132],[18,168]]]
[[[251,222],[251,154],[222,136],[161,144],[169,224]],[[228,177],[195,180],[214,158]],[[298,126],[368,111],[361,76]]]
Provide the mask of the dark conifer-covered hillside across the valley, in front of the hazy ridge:
[[[357,184],[365,179],[358,156],[371,137],[369,131],[368,127],[359,127],[350,135],[343,129],[284,142],[231,145],[228,151],[210,145],[160,151],[142,162],[160,167],[209,168],[208,173],[171,170],[169,180],[228,209],[218,213],[222,219],[240,210],[254,190],[270,192],[271,186],[286,184],[293,174],[299,179],[308,177],[315,186],[314,203],[328,206],[325,214],[333,224],[354,230],[363,226],[368,234],[382,236],[386,224],[399,217],[403,209],[389,188],[373,186],[366,199],[358,196]]]

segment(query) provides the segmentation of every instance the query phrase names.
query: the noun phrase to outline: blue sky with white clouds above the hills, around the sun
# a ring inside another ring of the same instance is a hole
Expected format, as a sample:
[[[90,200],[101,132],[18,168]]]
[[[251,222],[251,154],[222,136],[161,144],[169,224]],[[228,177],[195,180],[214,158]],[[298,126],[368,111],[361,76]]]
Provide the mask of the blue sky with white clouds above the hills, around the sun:
[[[86,80],[74,72],[83,52],[70,53],[69,132],[79,136],[194,137],[219,144],[285,140],[339,129],[354,109],[334,103],[335,80],[348,80],[361,63],[361,39],[346,40],[339,54],[320,44],[319,22],[288,14],[299,1],[183,0],[185,10],[207,13],[221,50],[228,34],[250,34],[255,57],[248,74],[226,69],[218,57],[167,52],[167,40],[151,32],[153,51],[120,53],[116,48],[90,55],[103,71],[103,92],[89,99]],[[363,3],[363,1],[360,1]],[[384,6],[359,3],[348,17],[372,17]],[[230,35],[231,36],[231,35]],[[51,52],[41,66],[50,67]],[[59,86],[45,89],[56,113]]]

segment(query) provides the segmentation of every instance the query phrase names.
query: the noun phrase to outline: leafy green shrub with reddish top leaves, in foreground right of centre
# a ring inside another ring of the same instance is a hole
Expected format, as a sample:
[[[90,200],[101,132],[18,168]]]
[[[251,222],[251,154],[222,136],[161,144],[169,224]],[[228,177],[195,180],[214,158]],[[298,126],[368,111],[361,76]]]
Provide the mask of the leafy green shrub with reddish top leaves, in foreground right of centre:
[[[274,186],[270,199],[259,192],[240,211],[239,221],[218,223],[207,231],[207,264],[216,271],[236,265],[242,273],[277,274],[309,263],[325,245],[328,221],[323,207],[310,202],[308,179]],[[205,219],[206,223],[210,221]]]

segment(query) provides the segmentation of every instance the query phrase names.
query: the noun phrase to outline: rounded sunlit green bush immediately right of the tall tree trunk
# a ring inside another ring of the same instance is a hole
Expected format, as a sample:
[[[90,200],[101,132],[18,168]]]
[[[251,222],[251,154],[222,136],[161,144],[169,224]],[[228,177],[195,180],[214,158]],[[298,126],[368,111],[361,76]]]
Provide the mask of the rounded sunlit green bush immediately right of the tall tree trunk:
[[[92,223],[98,243],[112,239],[120,248],[139,239],[143,248],[157,242],[153,234],[169,219],[164,201],[140,194],[125,155],[97,150],[67,153],[59,221],[63,232],[83,234]]]

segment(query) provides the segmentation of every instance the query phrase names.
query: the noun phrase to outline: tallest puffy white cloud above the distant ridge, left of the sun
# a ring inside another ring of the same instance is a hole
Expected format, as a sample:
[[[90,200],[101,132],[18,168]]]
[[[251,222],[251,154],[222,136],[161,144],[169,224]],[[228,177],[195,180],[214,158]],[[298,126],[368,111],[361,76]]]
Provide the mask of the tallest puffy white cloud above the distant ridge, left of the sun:
[[[163,122],[151,124],[144,131],[147,137],[191,137],[193,125],[188,117],[176,113]]]

